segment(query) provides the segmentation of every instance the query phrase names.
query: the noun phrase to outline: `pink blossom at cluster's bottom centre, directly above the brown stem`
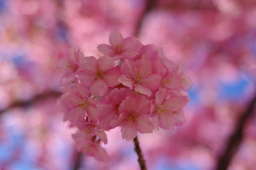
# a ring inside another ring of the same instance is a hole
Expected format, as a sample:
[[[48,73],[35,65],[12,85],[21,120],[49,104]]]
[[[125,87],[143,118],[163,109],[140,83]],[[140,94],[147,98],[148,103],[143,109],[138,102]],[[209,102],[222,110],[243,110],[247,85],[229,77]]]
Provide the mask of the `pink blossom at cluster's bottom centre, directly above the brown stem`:
[[[130,141],[137,135],[152,133],[154,126],[148,118],[150,112],[150,101],[145,97],[127,97],[118,109],[120,117],[118,120],[111,121],[111,125],[121,126],[122,138]]]

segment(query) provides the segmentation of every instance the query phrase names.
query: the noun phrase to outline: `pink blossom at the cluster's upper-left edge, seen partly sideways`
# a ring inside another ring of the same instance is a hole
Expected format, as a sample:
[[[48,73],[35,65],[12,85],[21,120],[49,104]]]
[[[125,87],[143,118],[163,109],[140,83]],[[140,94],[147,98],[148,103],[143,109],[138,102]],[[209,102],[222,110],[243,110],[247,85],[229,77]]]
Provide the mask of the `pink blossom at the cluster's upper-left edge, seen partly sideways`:
[[[76,80],[76,73],[79,71],[83,59],[83,52],[75,47],[68,49],[67,56],[59,59],[56,67],[63,73],[60,79],[60,86],[68,86]]]

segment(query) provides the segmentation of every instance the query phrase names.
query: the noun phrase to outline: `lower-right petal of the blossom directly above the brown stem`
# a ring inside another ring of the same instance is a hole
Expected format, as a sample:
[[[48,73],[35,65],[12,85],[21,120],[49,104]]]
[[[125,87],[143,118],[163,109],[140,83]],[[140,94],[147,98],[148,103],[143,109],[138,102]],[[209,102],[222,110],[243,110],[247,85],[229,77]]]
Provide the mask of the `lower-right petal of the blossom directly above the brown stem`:
[[[139,120],[136,127],[138,132],[140,132],[141,134],[153,132],[154,126],[152,125],[147,115],[142,114],[138,119]]]

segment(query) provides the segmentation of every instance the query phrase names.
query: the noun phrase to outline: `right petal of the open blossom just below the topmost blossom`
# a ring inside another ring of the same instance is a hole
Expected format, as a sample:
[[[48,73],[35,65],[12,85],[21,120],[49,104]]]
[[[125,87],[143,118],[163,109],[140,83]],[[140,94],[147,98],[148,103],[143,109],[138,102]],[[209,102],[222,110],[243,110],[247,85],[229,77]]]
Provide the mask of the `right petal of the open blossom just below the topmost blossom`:
[[[108,83],[109,87],[114,87],[120,84],[118,82],[118,79],[120,77],[120,67],[116,66],[115,68],[112,68],[111,70],[108,70],[108,72],[104,75],[104,80]]]

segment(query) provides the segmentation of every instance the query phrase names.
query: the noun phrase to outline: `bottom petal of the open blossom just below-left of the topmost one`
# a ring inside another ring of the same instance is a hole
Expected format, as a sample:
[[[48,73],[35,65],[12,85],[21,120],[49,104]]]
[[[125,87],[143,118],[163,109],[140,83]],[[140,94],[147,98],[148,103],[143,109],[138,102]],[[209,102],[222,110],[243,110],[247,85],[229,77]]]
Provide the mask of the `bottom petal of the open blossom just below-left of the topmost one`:
[[[108,85],[105,81],[99,79],[92,83],[90,91],[93,95],[97,97],[103,97],[108,91]]]

